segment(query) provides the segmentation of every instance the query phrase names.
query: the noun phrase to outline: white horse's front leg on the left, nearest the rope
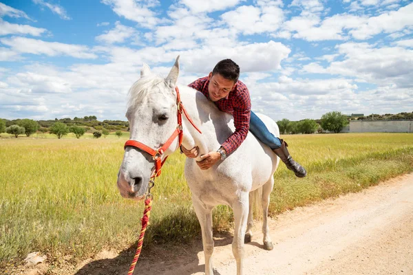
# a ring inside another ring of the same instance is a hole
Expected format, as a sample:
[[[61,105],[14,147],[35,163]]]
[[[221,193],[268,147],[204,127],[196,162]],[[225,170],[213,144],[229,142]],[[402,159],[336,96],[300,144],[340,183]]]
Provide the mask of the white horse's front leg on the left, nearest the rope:
[[[213,275],[211,259],[213,253],[212,208],[208,208],[202,201],[194,196],[192,196],[192,203],[201,225],[202,245],[204,246],[205,255],[205,275]]]

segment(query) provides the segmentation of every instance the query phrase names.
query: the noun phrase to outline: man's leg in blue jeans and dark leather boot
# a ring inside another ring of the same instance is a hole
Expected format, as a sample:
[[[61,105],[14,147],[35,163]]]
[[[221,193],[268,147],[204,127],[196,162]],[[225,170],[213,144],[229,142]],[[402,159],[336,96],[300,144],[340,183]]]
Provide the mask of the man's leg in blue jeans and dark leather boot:
[[[284,142],[284,140],[275,137],[273,133],[270,133],[264,122],[262,122],[253,111],[251,111],[249,131],[251,131],[260,142],[273,149],[273,152],[282,160],[282,162],[284,162],[284,164],[286,164],[288,169],[295,173],[297,177],[305,177],[307,175],[306,169],[299,165],[298,162],[295,162],[293,157],[290,156],[290,153],[288,153],[288,144]]]

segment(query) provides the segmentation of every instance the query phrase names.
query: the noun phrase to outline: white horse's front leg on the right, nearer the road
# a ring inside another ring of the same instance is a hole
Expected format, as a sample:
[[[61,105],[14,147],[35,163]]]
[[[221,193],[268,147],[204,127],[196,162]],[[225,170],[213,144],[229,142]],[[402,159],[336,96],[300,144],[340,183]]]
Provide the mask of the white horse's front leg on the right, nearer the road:
[[[244,259],[244,235],[246,220],[248,218],[248,192],[242,192],[232,205],[234,211],[234,239],[232,243],[233,254],[237,261],[237,275],[242,275],[242,261]]]

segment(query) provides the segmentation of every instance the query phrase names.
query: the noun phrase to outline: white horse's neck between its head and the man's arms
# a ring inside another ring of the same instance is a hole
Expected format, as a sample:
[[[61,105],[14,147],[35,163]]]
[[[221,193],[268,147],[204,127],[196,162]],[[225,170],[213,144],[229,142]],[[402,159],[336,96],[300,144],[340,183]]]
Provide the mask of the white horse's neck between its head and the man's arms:
[[[215,114],[223,115],[223,113],[221,113],[218,108],[215,107],[215,104],[204,97],[199,91],[187,86],[179,86],[179,89],[184,108],[187,110],[193,123],[202,131],[201,135],[183,115],[184,139],[182,145],[188,149],[198,146],[198,156],[208,153],[211,150],[218,149],[209,148],[208,146],[208,144],[211,143],[208,142],[209,139],[215,138],[216,140],[216,136],[214,136],[216,135],[215,129],[211,126],[212,122],[210,117]]]

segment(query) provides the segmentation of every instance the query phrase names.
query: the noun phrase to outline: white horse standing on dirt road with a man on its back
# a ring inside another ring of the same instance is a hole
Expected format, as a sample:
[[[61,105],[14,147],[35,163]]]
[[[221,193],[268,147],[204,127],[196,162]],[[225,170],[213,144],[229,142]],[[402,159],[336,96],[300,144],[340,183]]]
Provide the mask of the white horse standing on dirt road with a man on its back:
[[[151,74],[149,66],[143,65],[140,79],[129,90],[127,119],[130,126],[130,140],[136,140],[151,148],[159,148],[177,127],[176,80],[179,73],[178,58],[167,78]],[[182,104],[200,128],[202,134],[183,117],[182,145],[185,148],[199,147],[198,157],[187,158],[185,177],[192,192],[192,201],[202,229],[202,243],[205,255],[205,274],[212,275],[211,255],[213,253],[212,210],[218,204],[230,206],[234,212],[235,230],[232,250],[237,262],[237,274],[242,274],[242,259],[245,241],[250,241],[253,225],[252,191],[262,190],[264,214],[262,232],[264,248],[272,250],[268,225],[268,203],[273,189],[273,174],[278,166],[278,157],[271,148],[257,141],[248,133],[246,140],[224,161],[217,162],[208,170],[201,170],[195,161],[200,155],[220,148],[233,133],[233,116],[223,113],[203,94],[187,86],[178,86]],[[279,136],[277,124],[260,115],[269,131]],[[178,149],[176,138],[162,157]],[[118,173],[118,189],[126,198],[143,199],[154,169],[151,155],[132,146],[125,148],[122,165]],[[248,214],[249,213],[249,214]]]

